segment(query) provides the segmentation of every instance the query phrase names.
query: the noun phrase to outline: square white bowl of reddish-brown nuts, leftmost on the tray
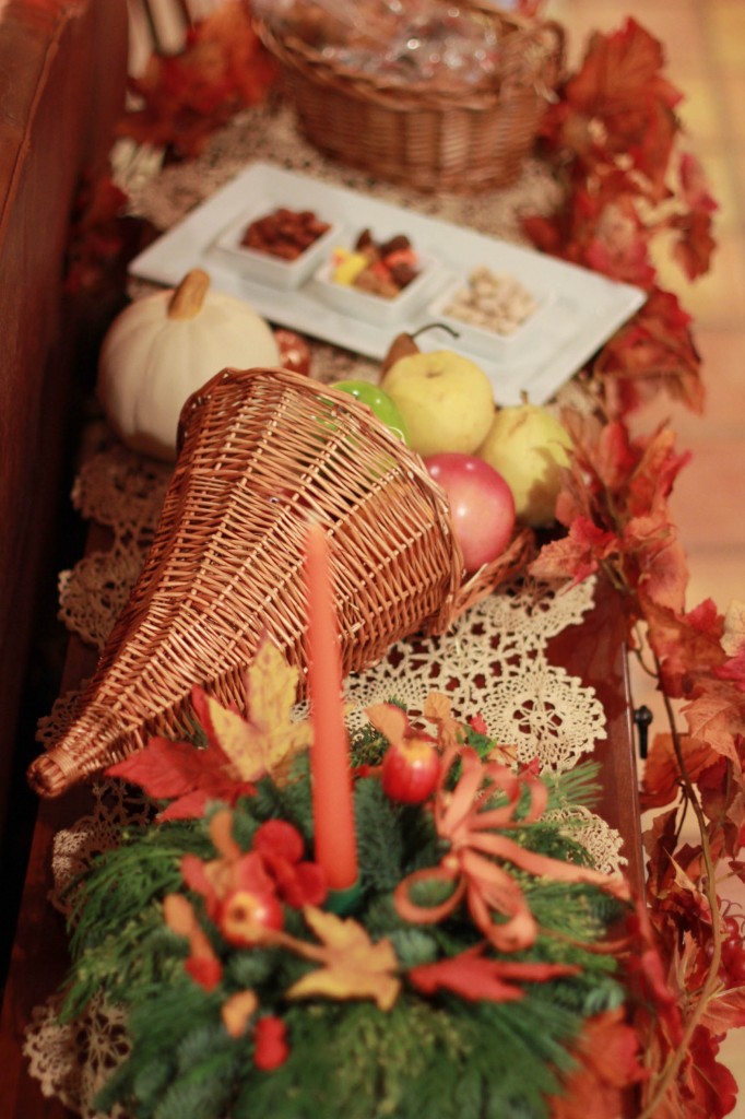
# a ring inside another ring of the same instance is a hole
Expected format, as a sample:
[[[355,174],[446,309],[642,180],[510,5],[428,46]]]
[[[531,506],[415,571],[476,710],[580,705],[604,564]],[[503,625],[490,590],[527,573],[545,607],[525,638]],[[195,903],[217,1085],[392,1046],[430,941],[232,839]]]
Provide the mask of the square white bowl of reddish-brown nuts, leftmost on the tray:
[[[265,204],[233,222],[210,255],[246,280],[291,291],[312,275],[337,237],[337,227],[312,209]]]

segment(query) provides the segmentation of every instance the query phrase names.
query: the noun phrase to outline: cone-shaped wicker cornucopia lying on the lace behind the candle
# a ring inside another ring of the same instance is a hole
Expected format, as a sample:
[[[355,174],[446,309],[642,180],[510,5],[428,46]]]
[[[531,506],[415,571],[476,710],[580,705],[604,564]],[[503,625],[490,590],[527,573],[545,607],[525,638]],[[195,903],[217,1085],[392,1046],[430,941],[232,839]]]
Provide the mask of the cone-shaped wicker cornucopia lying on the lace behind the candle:
[[[309,517],[330,536],[345,673],[454,617],[525,561],[531,535],[465,582],[444,492],[353,397],[284,369],[224,370],[185,405],[152,547],[69,728],[29,769],[56,796],[185,732],[194,684],[245,707],[264,632],[301,668]]]

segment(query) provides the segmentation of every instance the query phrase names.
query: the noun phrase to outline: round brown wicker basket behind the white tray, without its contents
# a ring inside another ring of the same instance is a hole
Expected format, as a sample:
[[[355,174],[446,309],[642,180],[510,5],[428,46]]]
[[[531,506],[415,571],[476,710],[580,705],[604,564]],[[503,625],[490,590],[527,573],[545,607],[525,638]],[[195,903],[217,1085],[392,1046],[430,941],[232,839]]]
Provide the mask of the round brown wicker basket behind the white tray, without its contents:
[[[340,68],[302,39],[256,30],[280,64],[299,125],[324,156],[423,192],[475,194],[518,178],[564,65],[560,25],[521,21],[488,3],[462,8],[498,27],[493,87],[444,93]]]

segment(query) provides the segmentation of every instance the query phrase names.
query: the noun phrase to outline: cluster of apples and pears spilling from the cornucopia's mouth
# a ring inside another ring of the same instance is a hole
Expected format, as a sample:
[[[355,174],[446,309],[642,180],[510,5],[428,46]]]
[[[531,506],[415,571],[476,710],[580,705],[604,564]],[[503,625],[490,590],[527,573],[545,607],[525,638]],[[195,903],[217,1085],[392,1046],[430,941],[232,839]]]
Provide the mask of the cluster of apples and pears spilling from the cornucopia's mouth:
[[[548,408],[496,407],[483,369],[454,350],[399,335],[379,384],[346,382],[424,459],[445,491],[468,574],[498,558],[516,528],[554,523],[570,439]]]

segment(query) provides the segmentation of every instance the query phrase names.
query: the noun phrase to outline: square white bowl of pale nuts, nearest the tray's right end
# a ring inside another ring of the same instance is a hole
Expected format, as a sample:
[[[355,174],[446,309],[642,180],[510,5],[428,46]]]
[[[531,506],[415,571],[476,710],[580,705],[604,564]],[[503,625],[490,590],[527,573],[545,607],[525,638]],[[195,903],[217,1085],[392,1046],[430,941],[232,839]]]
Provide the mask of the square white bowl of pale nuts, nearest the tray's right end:
[[[517,276],[479,265],[449,284],[427,310],[465,349],[494,358],[513,354],[549,303],[549,294],[528,290]]]

